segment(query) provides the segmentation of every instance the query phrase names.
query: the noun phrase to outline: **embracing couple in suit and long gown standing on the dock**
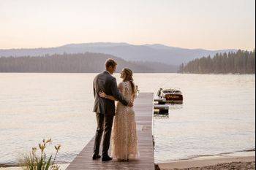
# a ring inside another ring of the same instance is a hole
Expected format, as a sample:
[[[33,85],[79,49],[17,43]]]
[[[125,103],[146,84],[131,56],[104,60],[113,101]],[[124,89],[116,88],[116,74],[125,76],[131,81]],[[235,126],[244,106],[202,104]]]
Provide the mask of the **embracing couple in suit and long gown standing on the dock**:
[[[121,71],[122,82],[117,86],[116,61],[108,59],[105,62],[105,71],[94,78],[94,112],[97,117],[97,131],[94,140],[93,160],[101,158],[99,145],[103,134],[102,161],[110,161],[111,155],[118,161],[128,161],[138,158],[138,136],[135,123],[133,101],[137,89],[132,78],[132,71],[124,68]],[[115,101],[117,105],[115,107]],[[113,126],[113,127],[112,127]],[[112,136],[111,136],[111,132]]]

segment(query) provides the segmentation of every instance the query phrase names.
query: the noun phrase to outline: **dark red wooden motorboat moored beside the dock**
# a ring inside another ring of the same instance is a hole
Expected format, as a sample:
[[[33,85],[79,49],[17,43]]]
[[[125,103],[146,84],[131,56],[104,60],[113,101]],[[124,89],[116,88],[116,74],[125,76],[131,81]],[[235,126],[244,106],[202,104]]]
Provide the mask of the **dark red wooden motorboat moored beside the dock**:
[[[183,95],[181,90],[177,90],[174,88],[162,89],[159,88],[157,91],[157,98],[159,104],[182,104],[183,103]],[[162,101],[161,101],[162,99]]]

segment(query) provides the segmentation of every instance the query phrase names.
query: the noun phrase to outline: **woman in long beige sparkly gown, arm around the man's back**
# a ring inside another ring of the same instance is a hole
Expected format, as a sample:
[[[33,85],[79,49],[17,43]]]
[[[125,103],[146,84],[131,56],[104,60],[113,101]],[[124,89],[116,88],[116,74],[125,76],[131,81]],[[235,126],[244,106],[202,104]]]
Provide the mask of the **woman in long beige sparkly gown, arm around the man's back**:
[[[132,78],[132,71],[124,68],[121,71],[121,79],[118,89],[128,101],[134,101],[137,93]],[[99,96],[115,100],[113,96],[108,96],[104,92],[100,92]],[[116,114],[113,120],[113,129],[111,136],[113,158],[119,161],[128,161],[136,159],[138,153],[138,136],[135,123],[135,112],[132,107],[126,107],[121,102],[116,105]]]

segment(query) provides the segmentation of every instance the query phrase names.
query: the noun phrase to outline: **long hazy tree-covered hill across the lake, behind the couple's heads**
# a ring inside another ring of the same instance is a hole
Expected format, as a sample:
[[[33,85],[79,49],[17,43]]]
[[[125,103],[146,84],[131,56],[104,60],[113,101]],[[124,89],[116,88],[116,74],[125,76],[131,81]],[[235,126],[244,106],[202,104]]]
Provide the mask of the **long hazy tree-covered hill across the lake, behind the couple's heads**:
[[[117,72],[128,67],[133,72],[177,72],[178,66],[157,62],[130,62],[102,53],[64,53],[41,57],[1,57],[0,72],[102,72],[106,59],[117,61]]]

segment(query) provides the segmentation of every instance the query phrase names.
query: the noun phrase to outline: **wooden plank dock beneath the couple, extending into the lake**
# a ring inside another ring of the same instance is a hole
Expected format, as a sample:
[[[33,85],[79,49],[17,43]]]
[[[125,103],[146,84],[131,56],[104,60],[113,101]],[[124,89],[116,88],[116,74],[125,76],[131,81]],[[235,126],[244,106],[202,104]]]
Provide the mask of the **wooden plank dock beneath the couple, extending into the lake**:
[[[67,170],[82,169],[154,169],[154,147],[152,138],[153,93],[140,93],[135,100],[135,118],[138,131],[138,149],[140,158],[131,161],[92,160],[94,138],[83,148],[69,164]],[[96,123],[95,123],[96,128]],[[110,148],[111,150],[111,148]],[[110,154],[110,150],[108,151]],[[102,147],[100,148],[100,152]],[[101,155],[101,153],[100,153]]]

